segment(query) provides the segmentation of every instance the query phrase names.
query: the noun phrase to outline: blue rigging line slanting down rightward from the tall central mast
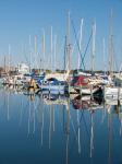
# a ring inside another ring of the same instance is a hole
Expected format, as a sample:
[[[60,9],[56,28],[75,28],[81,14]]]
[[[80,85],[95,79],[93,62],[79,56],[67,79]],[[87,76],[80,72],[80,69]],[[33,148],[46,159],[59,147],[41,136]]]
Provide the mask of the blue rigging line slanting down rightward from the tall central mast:
[[[78,51],[80,51],[80,55],[81,55],[81,58],[82,58],[82,63],[81,63],[81,66],[83,65],[83,69],[85,70],[85,65],[84,65],[84,60],[83,60],[83,57],[82,57],[82,51],[81,51],[80,44],[78,44],[78,40],[77,40],[76,31],[75,31],[75,27],[74,27],[73,20],[71,21],[71,23],[72,23],[73,31],[74,31],[74,35],[75,35],[76,45],[77,45],[77,47],[78,47]]]

